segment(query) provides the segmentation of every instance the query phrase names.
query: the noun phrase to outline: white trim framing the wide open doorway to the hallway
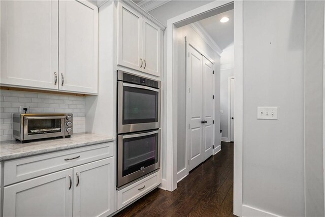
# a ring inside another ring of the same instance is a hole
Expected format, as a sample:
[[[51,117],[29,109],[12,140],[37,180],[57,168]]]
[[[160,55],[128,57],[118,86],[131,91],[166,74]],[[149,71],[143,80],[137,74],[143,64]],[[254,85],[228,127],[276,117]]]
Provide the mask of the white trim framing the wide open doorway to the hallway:
[[[188,11],[167,22],[167,69],[166,69],[166,186],[174,191],[177,188],[177,60],[175,61],[174,28],[206,18],[214,10],[225,9],[234,4],[234,76],[236,77],[234,102],[234,214],[242,215],[243,183],[243,1],[214,1]],[[223,6],[223,7],[221,7]],[[212,15],[211,14],[211,15]],[[211,16],[210,15],[210,16]],[[164,76],[165,77],[165,76]],[[164,102],[164,103],[165,103]]]

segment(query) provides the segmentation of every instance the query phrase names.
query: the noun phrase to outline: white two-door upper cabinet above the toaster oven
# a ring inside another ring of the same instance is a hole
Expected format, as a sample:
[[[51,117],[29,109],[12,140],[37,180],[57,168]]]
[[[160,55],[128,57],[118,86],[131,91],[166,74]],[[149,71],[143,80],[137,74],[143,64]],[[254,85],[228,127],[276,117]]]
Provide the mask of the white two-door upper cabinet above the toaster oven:
[[[1,1],[1,84],[98,93],[98,8]]]

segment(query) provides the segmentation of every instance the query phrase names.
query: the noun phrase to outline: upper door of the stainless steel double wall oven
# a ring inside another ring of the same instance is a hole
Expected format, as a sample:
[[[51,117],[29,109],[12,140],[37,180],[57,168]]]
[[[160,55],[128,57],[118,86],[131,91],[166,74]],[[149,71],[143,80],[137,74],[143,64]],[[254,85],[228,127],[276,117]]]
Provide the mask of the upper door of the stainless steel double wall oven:
[[[118,81],[118,133],[160,128],[160,89]]]

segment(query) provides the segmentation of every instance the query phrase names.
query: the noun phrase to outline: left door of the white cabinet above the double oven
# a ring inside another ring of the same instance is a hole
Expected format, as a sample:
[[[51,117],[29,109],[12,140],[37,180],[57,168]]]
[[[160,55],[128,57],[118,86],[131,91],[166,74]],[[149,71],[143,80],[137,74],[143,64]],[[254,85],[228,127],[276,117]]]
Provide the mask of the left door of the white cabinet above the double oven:
[[[142,70],[142,16],[118,3],[117,64]]]

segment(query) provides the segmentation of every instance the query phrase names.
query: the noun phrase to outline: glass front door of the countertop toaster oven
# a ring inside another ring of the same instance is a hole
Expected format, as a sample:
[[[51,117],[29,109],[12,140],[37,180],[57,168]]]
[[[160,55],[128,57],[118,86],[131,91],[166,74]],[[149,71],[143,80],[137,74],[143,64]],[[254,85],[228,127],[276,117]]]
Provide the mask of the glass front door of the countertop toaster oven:
[[[65,116],[24,116],[23,140],[64,136]]]

